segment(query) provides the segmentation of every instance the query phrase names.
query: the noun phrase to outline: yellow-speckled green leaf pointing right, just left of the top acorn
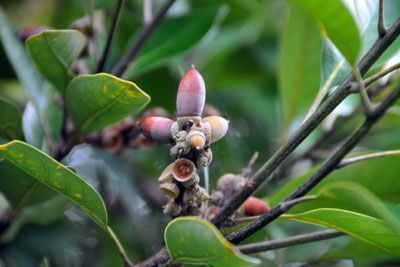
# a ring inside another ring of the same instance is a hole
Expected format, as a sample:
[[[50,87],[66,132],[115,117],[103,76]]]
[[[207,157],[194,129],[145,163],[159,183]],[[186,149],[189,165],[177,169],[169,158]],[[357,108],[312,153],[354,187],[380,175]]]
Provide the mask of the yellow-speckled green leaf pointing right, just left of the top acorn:
[[[76,77],[65,97],[68,114],[81,133],[116,123],[150,102],[150,96],[136,84],[106,73]]]

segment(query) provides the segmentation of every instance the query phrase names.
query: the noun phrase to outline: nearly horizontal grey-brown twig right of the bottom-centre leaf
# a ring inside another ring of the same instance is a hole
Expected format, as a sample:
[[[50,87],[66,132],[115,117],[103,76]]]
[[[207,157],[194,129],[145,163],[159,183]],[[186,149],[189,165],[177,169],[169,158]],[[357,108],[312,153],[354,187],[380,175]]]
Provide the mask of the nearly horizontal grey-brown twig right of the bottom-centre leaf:
[[[278,248],[286,248],[315,241],[331,239],[339,236],[346,235],[345,233],[336,230],[318,231],[309,234],[296,235],[288,238],[278,240],[264,241],[253,244],[238,246],[240,252],[244,254],[252,254],[263,251],[274,250]]]

